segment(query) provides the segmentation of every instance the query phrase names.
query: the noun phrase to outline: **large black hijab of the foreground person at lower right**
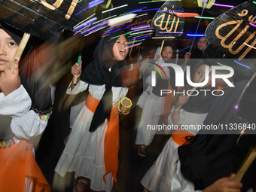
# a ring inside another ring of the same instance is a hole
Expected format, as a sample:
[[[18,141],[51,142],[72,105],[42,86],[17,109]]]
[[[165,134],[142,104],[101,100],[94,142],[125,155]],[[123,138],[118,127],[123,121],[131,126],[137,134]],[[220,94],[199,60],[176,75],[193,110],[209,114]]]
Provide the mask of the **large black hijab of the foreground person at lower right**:
[[[237,117],[234,106],[247,83],[246,80],[239,81],[235,87],[225,88],[223,96],[215,96],[203,124],[223,125],[223,130],[200,130],[190,144],[178,148],[181,172],[194,183],[195,190],[203,190],[219,178],[236,172],[248,151],[248,148],[236,145],[239,130],[236,133],[236,130],[225,129],[230,123],[245,123]]]

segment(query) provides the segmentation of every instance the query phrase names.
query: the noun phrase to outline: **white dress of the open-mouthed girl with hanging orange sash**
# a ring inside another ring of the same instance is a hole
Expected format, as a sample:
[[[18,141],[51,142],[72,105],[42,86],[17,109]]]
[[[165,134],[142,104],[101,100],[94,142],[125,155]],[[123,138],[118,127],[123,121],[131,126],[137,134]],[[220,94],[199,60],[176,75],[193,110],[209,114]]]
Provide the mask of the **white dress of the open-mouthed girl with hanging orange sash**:
[[[67,93],[78,94],[86,90],[87,87],[86,82],[79,81],[75,88],[72,91],[68,89]],[[89,92],[95,99],[100,100],[105,92],[105,85],[90,84]],[[120,99],[126,96],[127,92],[128,88],[126,87],[112,87],[112,104],[115,105],[119,102]],[[111,192],[114,181],[111,173],[105,176],[106,184],[103,181],[103,175],[105,175],[104,139],[108,129],[107,120],[95,132],[90,133],[89,128],[92,119],[93,112],[84,105],[73,123],[72,133],[55,171],[62,177],[67,172],[75,172],[75,178],[79,176],[90,178],[90,188],[92,190]]]

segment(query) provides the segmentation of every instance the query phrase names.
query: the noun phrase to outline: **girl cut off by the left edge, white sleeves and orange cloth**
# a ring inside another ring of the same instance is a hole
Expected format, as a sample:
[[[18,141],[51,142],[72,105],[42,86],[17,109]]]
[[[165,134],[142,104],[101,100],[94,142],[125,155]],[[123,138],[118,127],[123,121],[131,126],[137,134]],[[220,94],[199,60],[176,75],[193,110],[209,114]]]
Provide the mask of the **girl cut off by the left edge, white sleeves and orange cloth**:
[[[51,110],[50,92],[45,89],[42,94],[46,102],[35,100],[35,93],[39,92],[30,85],[39,84],[32,79],[28,84],[27,70],[23,70],[38,64],[31,55],[21,60],[23,67],[20,69],[16,59],[14,72],[10,70],[22,35],[17,29],[0,23],[0,189],[50,191],[33,153],[35,136],[47,126],[47,118],[42,120],[41,117],[46,117]]]

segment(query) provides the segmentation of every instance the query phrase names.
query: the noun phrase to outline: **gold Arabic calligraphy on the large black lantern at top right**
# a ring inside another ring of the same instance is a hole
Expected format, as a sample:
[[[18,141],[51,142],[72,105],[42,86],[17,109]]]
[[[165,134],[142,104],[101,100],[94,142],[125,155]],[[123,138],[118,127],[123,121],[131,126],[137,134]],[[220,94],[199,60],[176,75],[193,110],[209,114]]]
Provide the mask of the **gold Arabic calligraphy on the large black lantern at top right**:
[[[237,14],[240,17],[245,17],[248,14],[248,10],[244,9],[242,10],[241,14]],[[256,21],[254,21],[255,17],[253,17],[252,15],[250,17],[248,17],[248,22],[250,23],[256,23]],[[234,32],[238,31],[239,26],[241,26],[242,22],[244,20],[233,20],[233,21],[228,21],[226,23],[221,24],[220,26],[217,27],[216,31],[215,31],[215,35],[221,39],[221,45],[224,48],[227,48],[229,50],[229,52],[233,55],[236,55],[237,53],[239,53],[243,47],[245,47],[245,45],[248,45],[248,41],[251,41],[252,38],[254,38],[254,35],[256,32],[251,33],[251,35],[248,36],[248,38],[244,41],[244,43],[242,43],[236,50],[233,50],[233,46],[234,44],[236,44],[236,42],[239,40],[239,38],[241,38],[243,35],[245,35],[245,32],[247,32],[248,28],[250,27],[249,25],[246,25],[244,27],[244,29],[242,29],[238,35],[236,35],[236,37],[233,39],[233,41],[230,42],[230,44],[226,44],[225,41],[227,40],[227,38],[230,37],[230,35],[233,35]],[[221,36],[220,35],[220,30],[222,28],[224,28],[225,26],[230,26],[230,25],[236,25],[235,27],[233,27],[232,30],[230,30],[229,33],[227,33],[227,35],[225,36]],[[251,26],[254,27],[254,26]],[[249,46],[247,47],[247,49],[239,56],[239,61],[242,60],[247,54],[248,52],[251,50],[251,48],[254,46],[254,44],[256,44],[256,39],[254,39],[254,41],[251,42],[251,44],[249,44]]]

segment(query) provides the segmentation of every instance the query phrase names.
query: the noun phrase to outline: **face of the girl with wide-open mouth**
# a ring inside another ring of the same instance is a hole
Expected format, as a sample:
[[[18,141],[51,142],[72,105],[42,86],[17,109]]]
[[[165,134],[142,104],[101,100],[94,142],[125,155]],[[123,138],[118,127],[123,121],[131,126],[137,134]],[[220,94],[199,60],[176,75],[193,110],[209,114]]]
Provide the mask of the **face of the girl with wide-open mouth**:
[[[113,46],[113,55],[114,59],[117,61],[123,61],[126,58],[129,52],[129,49],[123,49],[123,47],[126,47],[126,43],[126,38],[123,35],[115,41]]]

